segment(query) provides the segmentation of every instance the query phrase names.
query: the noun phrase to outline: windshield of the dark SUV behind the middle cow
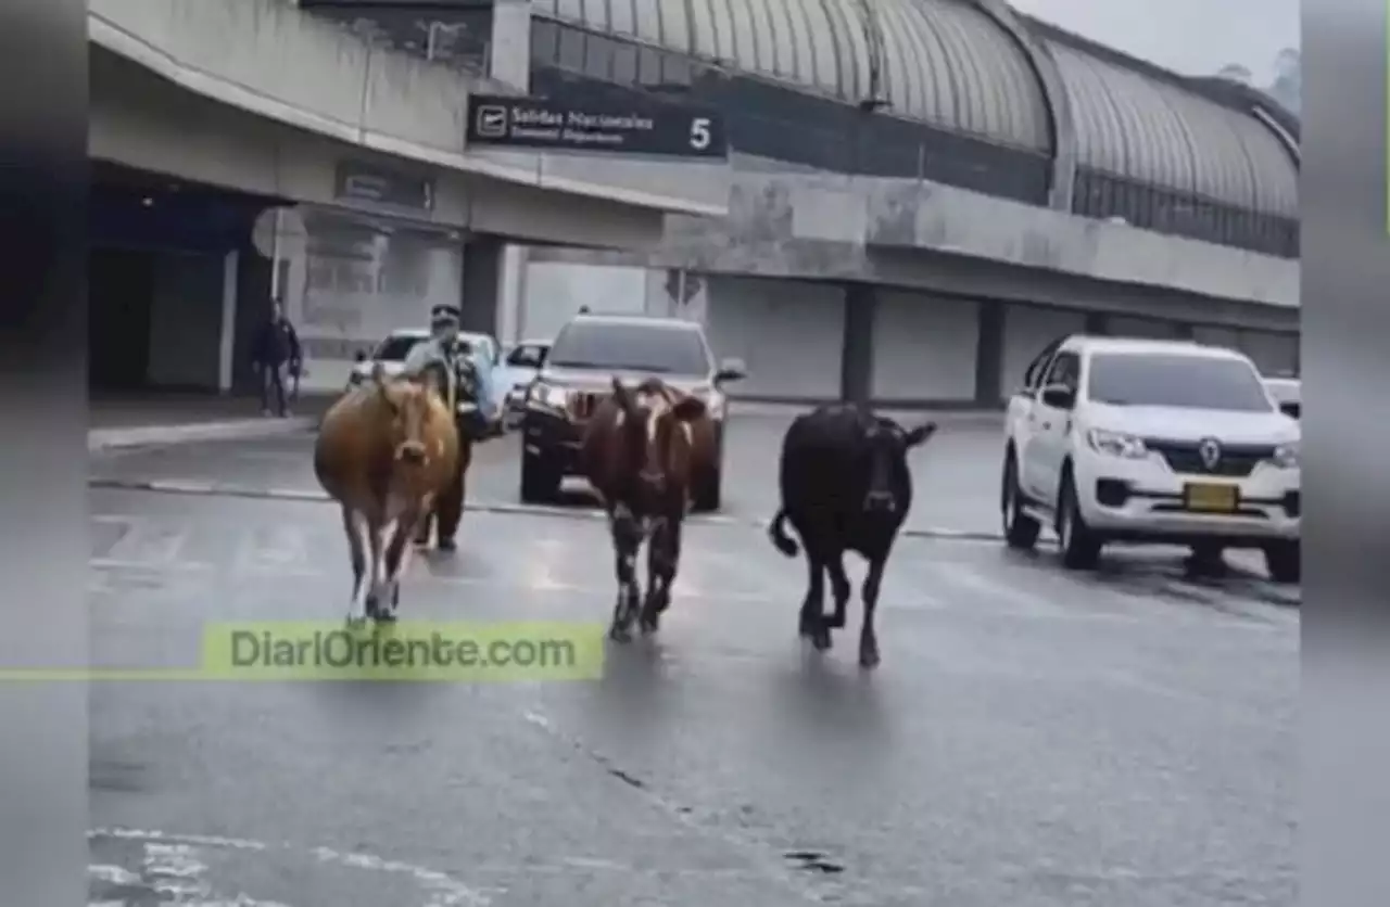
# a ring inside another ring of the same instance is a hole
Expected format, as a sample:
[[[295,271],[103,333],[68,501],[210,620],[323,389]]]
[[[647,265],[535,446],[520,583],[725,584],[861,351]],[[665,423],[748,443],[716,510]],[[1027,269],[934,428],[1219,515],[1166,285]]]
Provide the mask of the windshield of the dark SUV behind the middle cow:
[[[655,375],[703,375],[710,368],[696,331],[594,321],[566,325],[550,346],[548,364]]]

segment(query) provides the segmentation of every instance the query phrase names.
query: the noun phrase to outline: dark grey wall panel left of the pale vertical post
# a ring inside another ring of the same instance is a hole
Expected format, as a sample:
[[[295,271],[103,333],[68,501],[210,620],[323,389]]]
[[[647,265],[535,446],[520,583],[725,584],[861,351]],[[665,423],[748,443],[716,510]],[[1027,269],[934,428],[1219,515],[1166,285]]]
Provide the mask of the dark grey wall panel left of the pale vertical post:
[[[158,253],[150,300],[152,385],[217,390],[221,383],[222,256]]]

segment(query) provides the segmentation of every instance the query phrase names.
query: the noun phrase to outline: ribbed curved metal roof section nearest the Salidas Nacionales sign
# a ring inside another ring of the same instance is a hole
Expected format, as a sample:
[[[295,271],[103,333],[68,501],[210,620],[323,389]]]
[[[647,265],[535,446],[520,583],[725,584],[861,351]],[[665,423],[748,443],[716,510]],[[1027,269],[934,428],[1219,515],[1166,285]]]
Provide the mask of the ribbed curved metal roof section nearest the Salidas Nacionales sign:
[[[891,111],[1051,150],[1047,101],[1004,28],[967,0],[532,0],[541,15],[824,92],[869,96],[865,10]]]

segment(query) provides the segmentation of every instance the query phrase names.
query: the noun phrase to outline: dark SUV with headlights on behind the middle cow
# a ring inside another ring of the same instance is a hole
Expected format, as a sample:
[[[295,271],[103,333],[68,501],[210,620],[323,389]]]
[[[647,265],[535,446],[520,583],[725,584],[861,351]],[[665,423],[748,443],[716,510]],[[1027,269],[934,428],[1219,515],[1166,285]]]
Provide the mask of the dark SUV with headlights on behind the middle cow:
[[[564,476],[578,474],[580,439],[613,378],[638,383],[656,376],[705,400],[714,421],[716,467],[696,476],[696,510],[719,510],[724,465],[724,382],[745,375],[744,364],[716,368],[701,326],[646,315],[578,315],[560,329],[545,365],[525,396],[521,415],[521,500],[553,499]]]

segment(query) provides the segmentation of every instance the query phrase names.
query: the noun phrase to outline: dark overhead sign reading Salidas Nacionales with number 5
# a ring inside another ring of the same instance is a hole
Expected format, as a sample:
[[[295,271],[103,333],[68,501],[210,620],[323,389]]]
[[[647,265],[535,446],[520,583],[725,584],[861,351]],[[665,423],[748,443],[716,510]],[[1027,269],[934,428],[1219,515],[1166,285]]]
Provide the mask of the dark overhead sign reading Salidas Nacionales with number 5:
[[[635,110],[616,104],[471,94],[467,144],[724,158],[717,111],[684,104]]]

